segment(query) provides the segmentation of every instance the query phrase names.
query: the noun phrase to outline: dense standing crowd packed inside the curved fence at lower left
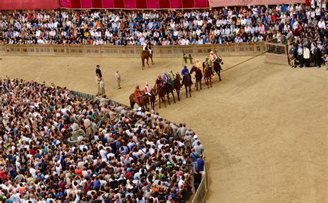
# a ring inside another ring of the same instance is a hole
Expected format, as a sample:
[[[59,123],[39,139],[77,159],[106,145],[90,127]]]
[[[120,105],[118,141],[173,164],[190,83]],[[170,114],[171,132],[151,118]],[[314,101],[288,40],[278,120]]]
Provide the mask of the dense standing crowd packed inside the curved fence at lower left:
[[[2,202],[186,202],[199,186],[203,146],[185,124],[53,84],[0,91]]]

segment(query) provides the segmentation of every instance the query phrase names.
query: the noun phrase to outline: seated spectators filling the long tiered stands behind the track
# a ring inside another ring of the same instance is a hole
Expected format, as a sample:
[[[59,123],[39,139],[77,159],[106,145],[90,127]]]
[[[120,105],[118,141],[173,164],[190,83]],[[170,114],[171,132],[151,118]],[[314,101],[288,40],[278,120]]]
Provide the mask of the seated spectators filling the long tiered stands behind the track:
[[[319,3],[320,2],[320,3]],[[327,36],[325,1],[212,10],[53,10],[2,12],[9,44],[188,45]],[[283,37],[284,36],[284,37]]]

